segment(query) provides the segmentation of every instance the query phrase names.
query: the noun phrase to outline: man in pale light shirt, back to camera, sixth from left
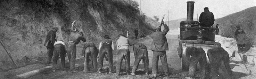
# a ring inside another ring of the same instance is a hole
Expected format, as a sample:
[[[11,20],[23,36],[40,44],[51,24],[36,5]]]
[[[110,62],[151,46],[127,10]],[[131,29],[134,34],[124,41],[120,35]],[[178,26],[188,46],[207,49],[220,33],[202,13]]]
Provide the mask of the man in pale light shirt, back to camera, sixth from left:
[[[128,31],[127,31],[128,35]],[[119,39],[116,41],[116,47],[118,49],[117,63],[116,63],[116,76],[119,76],[122,61],[125,61],[126,75],[130,75],[130,51],[128,48],[129,41],[123,34],[118,35]]]

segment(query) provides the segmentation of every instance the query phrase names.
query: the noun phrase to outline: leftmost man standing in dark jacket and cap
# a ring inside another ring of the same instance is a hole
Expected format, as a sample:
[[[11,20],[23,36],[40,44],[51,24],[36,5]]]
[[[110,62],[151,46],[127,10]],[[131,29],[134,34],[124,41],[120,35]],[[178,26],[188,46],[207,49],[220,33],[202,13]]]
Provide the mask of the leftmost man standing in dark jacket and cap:
[[[57,41],[56,32],[58,31],[58,27],[53,27],[52,30],[48,31],[46,35],[46,40],[44,41],[44,46],[47,48],[47,64],[51,64],[51,58],[53,55],[53,44]]]

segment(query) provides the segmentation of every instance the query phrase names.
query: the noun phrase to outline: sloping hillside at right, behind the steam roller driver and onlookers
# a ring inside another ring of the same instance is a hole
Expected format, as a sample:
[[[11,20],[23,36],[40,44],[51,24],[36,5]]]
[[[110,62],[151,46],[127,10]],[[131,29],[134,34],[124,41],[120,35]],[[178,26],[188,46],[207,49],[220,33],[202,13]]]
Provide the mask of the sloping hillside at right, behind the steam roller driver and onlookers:
[[[214,26],[217,23],[220,24],[219,34],[221,36],[233,37],[236,31],[236,26],[240,25],[241,29],[245,30],[246,35],[249,37],[250,43],[255,44],[256,6],[216,19]]]

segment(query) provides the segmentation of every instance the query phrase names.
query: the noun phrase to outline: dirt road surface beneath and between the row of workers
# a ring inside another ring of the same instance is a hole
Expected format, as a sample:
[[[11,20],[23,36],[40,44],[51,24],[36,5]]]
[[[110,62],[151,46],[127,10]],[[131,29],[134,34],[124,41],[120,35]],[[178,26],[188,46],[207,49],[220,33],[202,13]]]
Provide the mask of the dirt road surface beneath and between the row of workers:
[[[168,61],[168,66],[169,66],[169,72],[170,72],[170,76],[167,77],[162,77],[161,75],[163,75],[163,68],[162,68],[162,63],[159,59],[159,63],[158,63],[158,75],[160,75],[157,79],[184,79],[185,77],[188,77],[188,71],[182,71],[181,70],[181,59],[177,56],[177,50],[176,48],[179,45],[178,39],[177,39],[177,35],[168,33],[166,35],[167,37],[167,41],[169,44],[169,50],[166,51],[167,54],[167,61]],[[147,48],[150,48],[150,43],[152,42],[151,38],[145,38],[145,39],[141,39],[139,41],[140,43],[143,43],[144,45],[147,46]],[[131,57],[131,61],[130,61],[130,69],[132,69],[133,63],[134,63],[134,54],[132,51],[132,48],[130,46],[130,57]],[[151,50],[148,50],[148,55],[149,55],[149,70],[150,70],[150,74],[152,73],[152,56],[153,53]],[[80,53],[77,53],[77,56],[80,56]],[[117,55],[116,52],[114,52],[113,55],[113,61],[114,61],[114,69],[116,67],[116,62],[117,62]],[[56,72],[51,72],[51,71],[46,71],[42,74],[36,75],[36,76],[32,76],[28,79],[148,79],[150,78],[150,75],[144,75],[144,68],[143,68],[143,64],[142,61],[140,62],[139,68],[137,70],[138,75],[136,76],[132,76],[132,75],[126,75],[124,72],[124,60],[123,60],[123,64],[122,64],[122,70],[123,72],[121,72],[121,76],[115,76],[114,73],[112,74],[98,74],[96,71],[91,72],[91,73],[83,73],[83,62],[84,59],[81,58],[79,60],[76,61],[76,64],[79,64],[79,66],[76,68],[77,72],[73,72],[70,73],[67,70],[62,71],[62,70],[57,70]],[[237,63],[237,62],[236,62]],[[90,68],[92,68],[92,64],[90,62],[89,64]],[[234,68],[236,65],[231,64],[231,68]],[[108,62],[106,60],[104,60],[104,68],[105,68],[105,72],[108,72],[107,70],[108,67]],[[227,76],[227,74],[225,73],[226,70],[224,69],[224,66],[221,67],[222,69],[220,69],[220,73],[223,74],[224,78],[225,76]],[[233,72],[234,76],[232,77],[232,79],[237,79],[237,78],[241,78],[244,77],[246,75],[244,75],[241,72]],[[199,71],[197,71],[196,73],[196,79],[198,79]]]

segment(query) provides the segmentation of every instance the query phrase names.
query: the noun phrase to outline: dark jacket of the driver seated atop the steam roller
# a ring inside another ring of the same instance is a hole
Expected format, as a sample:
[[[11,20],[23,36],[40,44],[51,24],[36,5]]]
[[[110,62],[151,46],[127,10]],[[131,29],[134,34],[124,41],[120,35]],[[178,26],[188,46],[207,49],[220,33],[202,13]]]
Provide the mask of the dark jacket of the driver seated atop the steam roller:
[[[206,24],[206,25],[213,25],[214,24],[214,15],[212,12],[204,11],[199,16],[199,22]]]

